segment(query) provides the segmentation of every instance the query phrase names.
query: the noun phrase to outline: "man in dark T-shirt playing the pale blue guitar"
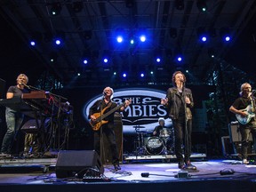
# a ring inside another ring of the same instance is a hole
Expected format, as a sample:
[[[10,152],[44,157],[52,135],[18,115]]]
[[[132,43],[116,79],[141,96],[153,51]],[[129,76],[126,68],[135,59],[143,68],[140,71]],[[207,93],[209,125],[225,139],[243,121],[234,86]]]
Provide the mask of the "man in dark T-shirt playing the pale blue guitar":
[[[251,111],[244,110],[244,108],[249,108]],[[242,118],[247,118],[250,114],[255,113],[255,97],[252,95],[252,86],[251,84],[244,83],[241,85],[240,97],[237,98],[232,106],[229,108],[229,111],[236,114],[236,116],[241,116]],[[238,119],[238,118],[237,118]],[[239,119],[238,119],[239,122]],[[249,164],[247,160],[247,150],[249,147],[249,136],[252,132],[252,136],[256,138],[256,121],[255,117],[252,117],[247,124],[241,124],[239,122],[239,130],[242,136],[242,159],[243,164]],[[255,142],[255,140],[254,140]]]

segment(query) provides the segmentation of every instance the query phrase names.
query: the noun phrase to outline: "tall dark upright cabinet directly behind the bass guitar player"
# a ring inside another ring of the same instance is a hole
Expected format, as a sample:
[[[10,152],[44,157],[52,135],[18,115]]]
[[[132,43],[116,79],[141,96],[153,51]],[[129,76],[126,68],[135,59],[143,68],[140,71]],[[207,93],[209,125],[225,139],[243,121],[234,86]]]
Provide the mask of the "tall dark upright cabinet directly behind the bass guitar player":
[[[123,162],[123,123],[122,116],[119,113],[114,114],[114,132],[116,135],[116,148],[119,156],[119,162]],[[103,137],[104,143],[104,156],[101,156],[102,162],[104,164],[112,164],[112,152],[110,150],[108,141],[105,137]]]

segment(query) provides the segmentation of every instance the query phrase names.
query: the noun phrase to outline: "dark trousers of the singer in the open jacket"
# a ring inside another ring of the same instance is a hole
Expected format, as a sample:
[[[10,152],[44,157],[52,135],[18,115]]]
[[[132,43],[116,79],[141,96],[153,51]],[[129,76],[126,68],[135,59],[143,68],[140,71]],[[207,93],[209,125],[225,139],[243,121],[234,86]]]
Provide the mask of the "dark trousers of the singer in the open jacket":
[[[185,117],[172,120],[174,128],[174,142],[175,142],[175,155],[178,162],[189,160],[191,155],[191,132],[192,132],[192,119],[187,120],[185,124]],[[184,158],[182,145],[184,146]]]

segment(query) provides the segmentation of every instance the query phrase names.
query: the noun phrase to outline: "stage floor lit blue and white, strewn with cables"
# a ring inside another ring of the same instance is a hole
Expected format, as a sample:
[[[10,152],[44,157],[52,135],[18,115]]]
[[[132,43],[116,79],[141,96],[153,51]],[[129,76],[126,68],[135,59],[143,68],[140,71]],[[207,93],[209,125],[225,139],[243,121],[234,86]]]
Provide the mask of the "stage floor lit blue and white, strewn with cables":
[[[20,162],[19,162],[20,161]],[[22,162],[23,161],[23,162]],[[27,162],[26,162],[27,161]],[[14,163],[13,163],[14,162]],[[56,178],[55,158],[1,160],[0,190],[50,191],[255,191],[256,164],[236,159],[193,158],[196,171],[181,171],[175,159],[124,161],[122,170],[104,164],[100,175]]]

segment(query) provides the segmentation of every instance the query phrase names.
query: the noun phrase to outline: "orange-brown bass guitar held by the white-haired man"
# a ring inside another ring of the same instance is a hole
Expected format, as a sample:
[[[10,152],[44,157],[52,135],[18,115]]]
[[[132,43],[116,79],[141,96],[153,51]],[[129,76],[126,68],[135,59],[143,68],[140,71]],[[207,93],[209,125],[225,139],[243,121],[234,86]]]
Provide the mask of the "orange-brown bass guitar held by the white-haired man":
[[[92,130],[93,131],[98,131],[100,129],[100,126],[102,124],[107,124],[108,121],[103,120],[104,118],[106,118],[107,116],[110,116],[112,113],[114,113],[116,110],[118,110],[119,108],[122,108],[125,104],[125,101],[123,104],[116,106],[116,108],[112,108],[111,110],[109,110],[107,113],[104,114],[105,110],[107,108],[109,108],[110,106],[107,106],[106,108],[103,108],[101,110],[100,113],[94,113],[93,116],[96,117],[95,121],[90,121],[90,124],[92,125]]]

